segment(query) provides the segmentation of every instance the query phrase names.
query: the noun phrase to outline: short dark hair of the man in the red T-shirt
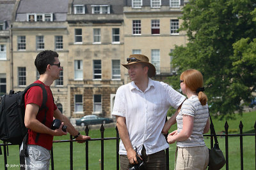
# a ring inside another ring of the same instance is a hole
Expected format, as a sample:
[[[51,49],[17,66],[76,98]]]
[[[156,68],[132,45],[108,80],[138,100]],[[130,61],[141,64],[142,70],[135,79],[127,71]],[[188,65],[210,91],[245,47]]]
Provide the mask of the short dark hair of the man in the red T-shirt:
[[[59,55],[51,50],[45,50],[36,55],[35,66],[40,75],[45,73],[48,64],[54,63],[54,57],[59,57]]]

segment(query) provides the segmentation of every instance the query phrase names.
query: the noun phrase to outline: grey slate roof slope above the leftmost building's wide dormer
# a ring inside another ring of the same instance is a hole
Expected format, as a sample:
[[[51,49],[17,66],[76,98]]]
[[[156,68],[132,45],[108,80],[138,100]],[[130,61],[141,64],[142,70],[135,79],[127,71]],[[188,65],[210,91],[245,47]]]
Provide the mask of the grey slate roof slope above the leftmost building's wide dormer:
[[[68,0],[20,0],[17,13],[67,13]]]

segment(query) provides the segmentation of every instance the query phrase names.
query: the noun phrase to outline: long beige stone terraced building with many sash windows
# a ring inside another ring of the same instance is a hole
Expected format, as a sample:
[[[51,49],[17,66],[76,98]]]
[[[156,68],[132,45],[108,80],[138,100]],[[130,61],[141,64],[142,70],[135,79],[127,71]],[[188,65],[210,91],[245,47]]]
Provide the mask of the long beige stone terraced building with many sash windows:
[[[63,114],[111,117],[116,90],[130,81],[121,65],[129,55],[147,55],[156,80],[175,73],[169,53],[187,42],[177,31],[183,6],[183,0],[12,1],[12,28],[0,31],[0,45],[6,44],[0,78],[6,77],[7,92],[23,90],[39,77],[36,55],[54,50],[63,71],[51,89]]]

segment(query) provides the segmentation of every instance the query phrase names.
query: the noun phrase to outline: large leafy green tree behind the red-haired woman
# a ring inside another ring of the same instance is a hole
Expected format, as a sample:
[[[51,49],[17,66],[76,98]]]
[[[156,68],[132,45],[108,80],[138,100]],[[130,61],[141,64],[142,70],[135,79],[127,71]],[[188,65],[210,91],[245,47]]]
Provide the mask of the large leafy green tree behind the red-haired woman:
[[[177,76],[170,83],[179,89],[179,75],[198,69],[212,113],[242,113],[255,92],[256,1],[191,0],[182,11],[180,30],[189,43],[170,54]]]

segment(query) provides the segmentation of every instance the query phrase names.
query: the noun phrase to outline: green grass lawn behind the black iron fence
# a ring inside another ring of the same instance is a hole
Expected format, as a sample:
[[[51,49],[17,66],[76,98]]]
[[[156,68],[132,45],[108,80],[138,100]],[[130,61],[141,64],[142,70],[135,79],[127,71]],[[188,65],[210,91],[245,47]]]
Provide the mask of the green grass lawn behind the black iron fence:
[[[236,115],[236,120],[228,120],[230,134],[239,133],[240,120],[243,122],[244,133],[254,133],[254,125],[256,120],[256,111],[244,113],[243,117]],[[212,120],[217,133],[225,131],[224,125],[226,120]],[[171,130],[175,130],[174,125]],[[84,134],[84,132],[81,132]],[[100,130],[90,130],[89,135],[91,138],[100,138]],[[104,137],[111,138],[116,136],[115,128],[105,129]],[[54,140],[69,139],[69,136],[54,137]],[[225,138],[218,137],[220,148],[225,154]],[[239,137],[228,138],[228,156],[229,156],[229,169],[240,169],[240,145]],[[205,137],[205,144],[210,147],[210,138]],[[100,141],[89,141],[89,169],[100,169]],[[1,147],[3,151],[3,147]],[[170,145],[170,169],[174,169],[175,160],[175,144]],[[69,159],[69,143],[54,143],[54,169],[70,169]],[[244,155],[244,169],[255,169],[255,136],[245,136],[243,138],[243,155]],[[85,144],[74,143],[74,162],[73,167],[75,170],[85,169]],[[9,146],[9,165],[19,164],[19,148],[18,146]],[[4,169],[4,158],[0,155],[0,169]],[[19,167],[8,168],[18,170]],[[116,141],[104,141],[104,169],[116,169]],[[223,167],[222,169],[225,169]]]

